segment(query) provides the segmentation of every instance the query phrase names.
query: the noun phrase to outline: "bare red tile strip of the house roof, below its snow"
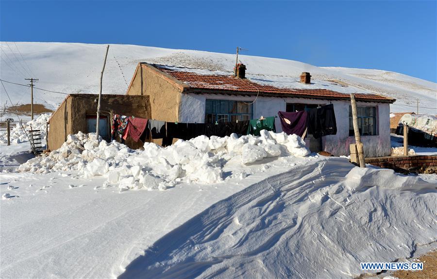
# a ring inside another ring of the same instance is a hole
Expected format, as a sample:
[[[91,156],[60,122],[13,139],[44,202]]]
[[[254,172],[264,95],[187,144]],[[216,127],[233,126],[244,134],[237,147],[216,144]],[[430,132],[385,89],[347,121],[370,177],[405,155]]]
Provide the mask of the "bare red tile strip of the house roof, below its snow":
[[[301,97],[301,98],[317,98],[317,99],[350,99],[349,94],[340,93],[327,89],[291,89],[281,88],[271,85],[263,85],[251,82],[247,79],[237,79],[234,76],[224,75],[201,75],[192,72],[183,72],[171,70],[164,67],[158,67],[159,70],[176,78],[181,82],[185,82],[190,86],[190,91],[204,92],[220,91],[224,93],[259,93],[268,96],[286,95],[287,97]],[[194,89],[194,90],[192,90]],[[201,93],[199,92],[199,93]],[[211,92],[215,93],[215,92]],[[388,98],[376,94],[355,94],[355,98],[361,101],[377,101],[377,102],[394,102],[395,99]]]

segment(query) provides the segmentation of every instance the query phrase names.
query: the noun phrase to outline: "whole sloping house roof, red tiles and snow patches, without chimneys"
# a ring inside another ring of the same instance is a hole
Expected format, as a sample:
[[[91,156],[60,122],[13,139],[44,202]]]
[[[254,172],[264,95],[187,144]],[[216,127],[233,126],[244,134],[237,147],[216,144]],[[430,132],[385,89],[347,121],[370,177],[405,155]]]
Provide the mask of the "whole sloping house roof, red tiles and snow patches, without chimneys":
[[[259,74],[247,74],[247,79],[237,79],[232,72],[154,66],[194,89],[234,91],[236,93],[259,91],[269,95],[285,94],[293,97],[323,99],[348,99],[350,93],[355,93],[356,98],[362,101],[394,102],[392,98],[337,82],[312,80],[311,84],[303,84],[297,80],[297,77]]]

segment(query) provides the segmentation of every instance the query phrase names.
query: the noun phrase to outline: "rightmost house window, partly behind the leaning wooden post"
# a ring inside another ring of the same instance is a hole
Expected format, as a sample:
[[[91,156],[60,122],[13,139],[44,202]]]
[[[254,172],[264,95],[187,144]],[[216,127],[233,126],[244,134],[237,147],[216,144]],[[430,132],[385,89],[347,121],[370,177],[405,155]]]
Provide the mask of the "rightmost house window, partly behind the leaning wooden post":
[[[377,135],[376,133],[376,107],[357,107],[358,130],[360,135]],[[353,136],[352,106],[349,106],[349,135]]]

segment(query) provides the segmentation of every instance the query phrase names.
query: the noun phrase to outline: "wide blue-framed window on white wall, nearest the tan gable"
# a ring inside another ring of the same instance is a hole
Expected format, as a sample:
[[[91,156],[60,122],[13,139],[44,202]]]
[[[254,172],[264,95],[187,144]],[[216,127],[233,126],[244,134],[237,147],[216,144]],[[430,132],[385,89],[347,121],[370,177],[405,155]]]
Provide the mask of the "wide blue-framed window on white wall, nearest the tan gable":
[[[252,104],[243,101],[206,100],[205,123],[251,120]]]

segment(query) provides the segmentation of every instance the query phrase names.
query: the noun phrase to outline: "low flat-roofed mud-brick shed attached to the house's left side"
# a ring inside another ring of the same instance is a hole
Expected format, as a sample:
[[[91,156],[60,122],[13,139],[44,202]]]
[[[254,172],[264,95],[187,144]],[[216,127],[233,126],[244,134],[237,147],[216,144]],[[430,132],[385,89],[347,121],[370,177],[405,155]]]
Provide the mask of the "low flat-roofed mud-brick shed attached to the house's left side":
[[[68,134],[79,131],[96,132],[97,100],[95,94],[70,94],[64,99],[58,109],[49,119],[50,130],[47,138],[48,148],[60,148],[67,140]],[[102,95],[99,134],[110,140],[111,113],[120,115],[135,115],[150,118],[148,96]],[[131,148],[138,148],[135,142],[126,142]],[[140,144],[142,145],[142,144]]]

